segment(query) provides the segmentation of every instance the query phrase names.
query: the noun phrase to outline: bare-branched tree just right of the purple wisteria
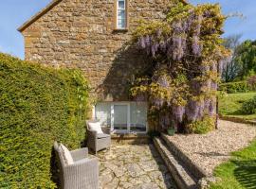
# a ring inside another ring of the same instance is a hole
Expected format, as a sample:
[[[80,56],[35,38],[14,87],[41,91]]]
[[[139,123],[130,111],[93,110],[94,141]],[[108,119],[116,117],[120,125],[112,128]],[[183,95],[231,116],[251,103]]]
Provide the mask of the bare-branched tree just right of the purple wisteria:
[[[222,79],[224,82],[230,82],[241,73],[241,64],[236,61],[238,54],[238,46],[242,35],[232,35],[225,39],[223,45],[227,47],[231,55],[227,60],[223,60],[221,64]]]

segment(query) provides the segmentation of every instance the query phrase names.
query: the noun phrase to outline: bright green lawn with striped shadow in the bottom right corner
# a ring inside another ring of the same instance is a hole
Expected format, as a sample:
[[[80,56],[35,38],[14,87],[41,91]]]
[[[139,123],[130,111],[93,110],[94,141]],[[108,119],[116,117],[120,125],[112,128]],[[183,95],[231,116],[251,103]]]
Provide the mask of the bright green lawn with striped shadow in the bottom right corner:
[[[210,189],[255,189],[256,188],[256,140],[250,146],[233,152],[229,162],[214,170],[214,176],[221,181]]]

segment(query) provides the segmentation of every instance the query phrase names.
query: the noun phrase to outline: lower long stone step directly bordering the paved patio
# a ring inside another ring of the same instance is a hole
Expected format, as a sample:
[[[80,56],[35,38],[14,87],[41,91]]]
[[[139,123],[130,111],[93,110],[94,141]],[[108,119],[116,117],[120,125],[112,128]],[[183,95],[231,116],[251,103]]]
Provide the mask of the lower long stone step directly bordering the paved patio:
[[[154,144],[171,172],[177,186],[180,189],[196,189],[197,180],[192,176],[182,162],[176,160],[163,139],[155,137]]]

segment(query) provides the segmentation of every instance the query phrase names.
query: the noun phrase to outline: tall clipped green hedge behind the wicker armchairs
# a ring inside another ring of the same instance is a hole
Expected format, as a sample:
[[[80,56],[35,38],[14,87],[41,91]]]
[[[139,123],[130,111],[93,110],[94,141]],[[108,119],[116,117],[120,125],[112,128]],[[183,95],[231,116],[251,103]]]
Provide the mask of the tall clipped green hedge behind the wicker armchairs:
[[[55,140],[85,138],[88,85],[78,70],[53,69],[0,53],[0,188],[55,188]]]

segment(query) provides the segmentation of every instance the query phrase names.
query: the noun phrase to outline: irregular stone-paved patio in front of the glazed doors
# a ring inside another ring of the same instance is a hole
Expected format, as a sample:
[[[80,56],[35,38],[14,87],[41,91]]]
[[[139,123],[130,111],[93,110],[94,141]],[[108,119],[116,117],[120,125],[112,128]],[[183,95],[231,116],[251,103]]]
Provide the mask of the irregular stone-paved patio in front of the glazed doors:
[[[153,145],[112,146],[98,153],[101,189],[172,189],[174,181]]]

